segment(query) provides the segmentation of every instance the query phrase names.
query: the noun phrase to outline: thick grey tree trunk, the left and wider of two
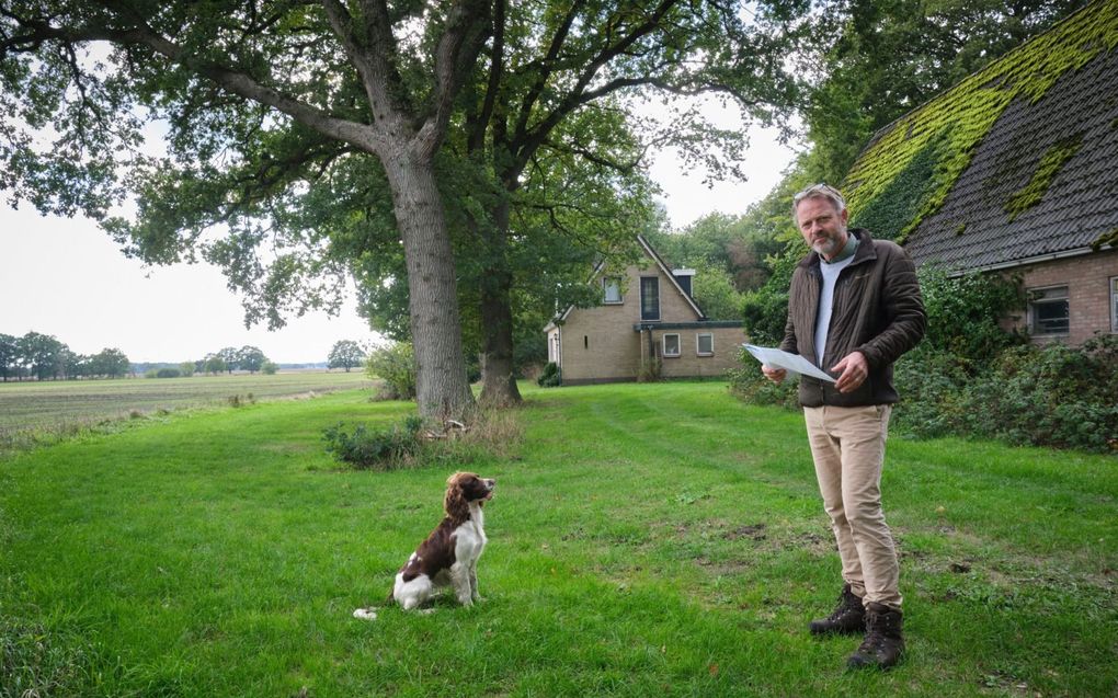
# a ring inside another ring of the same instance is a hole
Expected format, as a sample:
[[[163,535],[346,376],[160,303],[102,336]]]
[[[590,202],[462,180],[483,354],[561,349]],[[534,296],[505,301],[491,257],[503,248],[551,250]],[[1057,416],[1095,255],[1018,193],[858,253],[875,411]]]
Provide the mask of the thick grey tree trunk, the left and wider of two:
[[[413,153],[381,161],[404,238],[419,414],[461,421],[475,405],[462,353],[454,254],[434,166]]]

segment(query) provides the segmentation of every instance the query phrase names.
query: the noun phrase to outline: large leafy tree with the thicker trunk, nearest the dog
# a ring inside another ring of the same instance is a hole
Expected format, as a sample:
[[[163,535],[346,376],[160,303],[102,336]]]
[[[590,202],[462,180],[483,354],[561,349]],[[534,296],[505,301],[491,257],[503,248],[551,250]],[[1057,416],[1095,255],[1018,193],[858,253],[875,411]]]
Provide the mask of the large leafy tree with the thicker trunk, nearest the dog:
[[[248,322],[276,327],[287,312],[337,309],[344,272],[310,254],[315,231],[285,245],[286,214],[335,165],[376,162],[408,267],[420,412],[462,417],[473,395],[435,162],[491,11],[485,0],[6,7],[0,185],[101,221],[149,262],[200,251],[246,295]],[[149,118],[170,126],[165,156],[138,150]],[[58,137],[34,147],[48,126]],[[126,193],[135,220],[112,220]],[[217,224],[227,237],[201,243]],[[275,252],[268,268],[262,243]]]

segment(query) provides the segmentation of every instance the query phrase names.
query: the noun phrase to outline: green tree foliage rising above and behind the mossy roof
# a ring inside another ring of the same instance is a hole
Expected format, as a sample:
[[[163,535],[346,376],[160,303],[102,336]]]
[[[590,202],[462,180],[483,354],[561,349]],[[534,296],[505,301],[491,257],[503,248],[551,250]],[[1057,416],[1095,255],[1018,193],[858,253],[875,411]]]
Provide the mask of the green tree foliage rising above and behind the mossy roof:
[[[824,6],[805,69],[812,178],[841,182],[879,130],[1088,0],[841,0]]]

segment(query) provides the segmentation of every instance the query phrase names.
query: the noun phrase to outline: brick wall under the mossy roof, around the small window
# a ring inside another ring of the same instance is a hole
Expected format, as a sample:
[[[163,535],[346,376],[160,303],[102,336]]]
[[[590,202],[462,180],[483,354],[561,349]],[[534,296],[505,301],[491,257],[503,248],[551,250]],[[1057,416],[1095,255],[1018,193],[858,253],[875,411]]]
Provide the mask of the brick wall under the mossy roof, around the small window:
[[[1107,249],[1095,255],[1030,265],[1014,271],[1022,275],[1026,290],[1068,287],[1069,334],[1038,335],[1033,337],[1035,342],[1080,344],[1091,338],[1096,332],[1114,332],[1110,321],[1110,279],[1118,277],[1118,250]],[[1014,324],[1024,327],[1027,323],[1026,315],[1014,318]]]

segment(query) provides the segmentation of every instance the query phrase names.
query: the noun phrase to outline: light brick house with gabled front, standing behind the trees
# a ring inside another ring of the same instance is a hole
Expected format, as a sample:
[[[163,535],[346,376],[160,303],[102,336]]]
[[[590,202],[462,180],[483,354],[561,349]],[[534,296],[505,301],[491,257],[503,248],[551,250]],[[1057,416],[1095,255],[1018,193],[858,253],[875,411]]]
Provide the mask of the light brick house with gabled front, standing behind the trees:
[[[641,236],[637,245],[643,264],[617,276],[595,269],[600,305],[568,307],[544,328],[563,384],[713,377],[740,365],[741,321],[708,319],[691,297],[694,271],[671,269]]]

